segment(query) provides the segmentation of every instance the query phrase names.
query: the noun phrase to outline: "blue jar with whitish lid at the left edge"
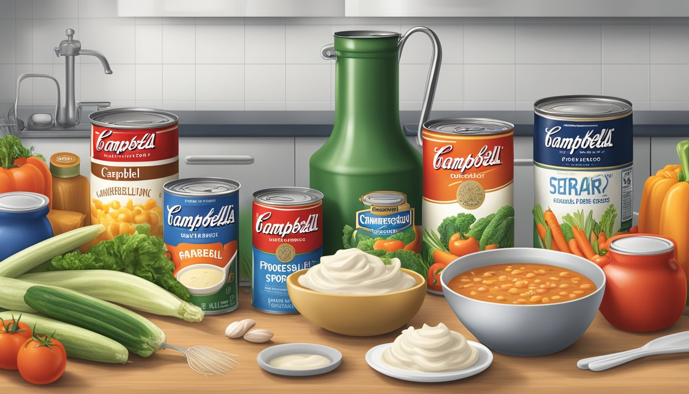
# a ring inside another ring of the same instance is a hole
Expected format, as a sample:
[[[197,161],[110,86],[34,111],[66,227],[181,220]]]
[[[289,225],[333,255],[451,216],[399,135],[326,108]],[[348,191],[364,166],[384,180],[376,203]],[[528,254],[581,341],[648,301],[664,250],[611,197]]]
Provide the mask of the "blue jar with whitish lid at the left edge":
[[[39,193],[0,194],[0,261],[52,237],[48,197]]]

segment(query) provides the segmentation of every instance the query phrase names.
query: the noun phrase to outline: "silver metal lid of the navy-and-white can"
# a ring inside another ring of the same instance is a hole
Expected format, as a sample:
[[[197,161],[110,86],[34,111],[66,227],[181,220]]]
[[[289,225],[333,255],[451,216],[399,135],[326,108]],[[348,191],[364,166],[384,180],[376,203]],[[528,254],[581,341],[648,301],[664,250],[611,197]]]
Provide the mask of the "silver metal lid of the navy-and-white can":
[[[557,96],[540,99],[533,104],[541,115],[587,119],[591,117],[616,117],[632,110],[632,103],[609,96]]]

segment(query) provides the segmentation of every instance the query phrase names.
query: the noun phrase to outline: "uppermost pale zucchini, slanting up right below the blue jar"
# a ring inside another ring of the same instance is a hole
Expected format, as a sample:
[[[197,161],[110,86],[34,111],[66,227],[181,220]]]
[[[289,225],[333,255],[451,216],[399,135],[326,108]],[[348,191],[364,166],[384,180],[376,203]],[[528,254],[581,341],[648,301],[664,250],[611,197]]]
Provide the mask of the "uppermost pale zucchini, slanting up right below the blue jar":
[[[56,255],[70,252],[105,231],[102,224],[76,228],[20,250],[0,262],[0,277],[19,277]]]

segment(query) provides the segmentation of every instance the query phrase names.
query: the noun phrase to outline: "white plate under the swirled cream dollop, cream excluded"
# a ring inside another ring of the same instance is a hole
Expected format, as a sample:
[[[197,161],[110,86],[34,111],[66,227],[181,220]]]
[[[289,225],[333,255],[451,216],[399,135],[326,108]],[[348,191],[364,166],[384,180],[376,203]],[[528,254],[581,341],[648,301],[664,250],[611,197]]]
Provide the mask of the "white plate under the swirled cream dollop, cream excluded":
[[[371,368],[382,373],[383,375],[388,375],[389,377],[394,377],[395,379],[409,380],[410,382],[449,382],[451,380],[464,379],[465,377],[476,375],[477,373],[483,372],[491,365],[493,362],[493,353],[478,342],[466,341],[476,348],[478,351],[478,360],[476,364],[473,364],[469,368],[460,369],[459,371],[447,371],[447,372],[422,372],[422,371],[411,371],[408,369],[393,368],[383,364],[380,360],[383,351],[392,346],[392,343],[382,344],[374,346],[366,353],[366,362],[369,363]]]

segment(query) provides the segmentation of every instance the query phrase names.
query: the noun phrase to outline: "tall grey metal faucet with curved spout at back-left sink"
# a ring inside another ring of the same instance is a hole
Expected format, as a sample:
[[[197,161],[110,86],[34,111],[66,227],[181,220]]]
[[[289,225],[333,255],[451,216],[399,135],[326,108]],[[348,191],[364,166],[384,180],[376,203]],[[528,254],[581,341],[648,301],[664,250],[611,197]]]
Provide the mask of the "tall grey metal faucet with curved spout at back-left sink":
[[[81,49],[81,41],[75,40],[74,29],[65,30],[67,39],[60,42],[60,46],[54,48],[57,57],[65,57],[65,106],[59,108],[56,114],[56,123],[63,128],[69,128],[79,124],[74,99],[74,57],[79,55],[91,55],[97,57],[103,63],[105,74],[112,74],[110,63],[101,52],[97,50]]]

